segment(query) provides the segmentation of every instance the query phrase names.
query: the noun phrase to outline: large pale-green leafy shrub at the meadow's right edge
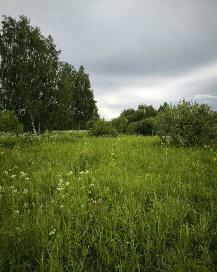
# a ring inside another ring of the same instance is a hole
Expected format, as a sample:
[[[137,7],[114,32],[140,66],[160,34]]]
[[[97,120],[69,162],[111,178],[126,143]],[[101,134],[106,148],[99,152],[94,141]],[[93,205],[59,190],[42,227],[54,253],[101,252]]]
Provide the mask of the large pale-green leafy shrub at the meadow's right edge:
[[[208,105],[183,99],[159,112],[155,130],[175,146],[206,144],[217,137],[216,119],[216,112]]]

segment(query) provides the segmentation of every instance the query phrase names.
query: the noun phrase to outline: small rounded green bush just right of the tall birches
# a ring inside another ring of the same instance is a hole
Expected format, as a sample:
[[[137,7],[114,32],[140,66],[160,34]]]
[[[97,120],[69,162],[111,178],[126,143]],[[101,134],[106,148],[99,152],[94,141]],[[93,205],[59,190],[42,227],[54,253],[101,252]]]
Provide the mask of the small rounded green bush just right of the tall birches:
[[[88,131],[91,136],[118,136],[118,131],[112,126],[111,122],[105,121],[105,119],[98,119],[93,127]]]

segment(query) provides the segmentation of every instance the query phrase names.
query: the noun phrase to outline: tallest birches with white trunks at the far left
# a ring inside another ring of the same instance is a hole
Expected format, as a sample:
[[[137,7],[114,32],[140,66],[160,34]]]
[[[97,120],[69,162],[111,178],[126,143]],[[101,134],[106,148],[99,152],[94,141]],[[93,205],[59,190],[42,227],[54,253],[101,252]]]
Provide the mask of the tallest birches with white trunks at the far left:
[[[19,21],[3,16],[0,34],[0,92],[2,109],[13,110],[24,124],[32,126],[37,135],[48,128],[56,102],[55,85],[58,56],[51,36],[42,36],[38,27],[30,26],[24,15]]]

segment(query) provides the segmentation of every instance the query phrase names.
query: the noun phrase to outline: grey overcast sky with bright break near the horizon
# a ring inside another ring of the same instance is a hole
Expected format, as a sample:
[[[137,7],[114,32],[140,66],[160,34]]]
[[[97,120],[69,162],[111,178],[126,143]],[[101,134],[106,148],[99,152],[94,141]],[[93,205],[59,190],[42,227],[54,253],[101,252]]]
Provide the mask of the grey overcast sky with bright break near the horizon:
[[[217,0],[0,0],[85,67],[101,117],[182,97],[217,110]]]

